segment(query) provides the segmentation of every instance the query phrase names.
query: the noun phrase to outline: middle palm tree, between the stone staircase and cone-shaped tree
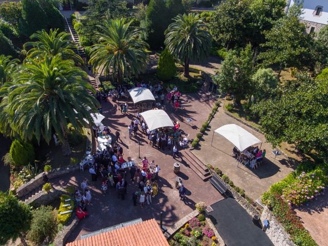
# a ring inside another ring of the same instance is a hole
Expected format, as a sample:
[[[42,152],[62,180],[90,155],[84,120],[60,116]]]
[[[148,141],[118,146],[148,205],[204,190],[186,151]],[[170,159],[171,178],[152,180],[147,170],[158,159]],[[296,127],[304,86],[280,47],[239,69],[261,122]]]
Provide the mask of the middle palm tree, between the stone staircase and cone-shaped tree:
[[[90,64],[95,71],[116,74],[118,83],[125,75],[137,75],[146,65],[147,44],[138,39],[141,31],[130,27],[132,20],[126,22],[125,18],[112,19],[98,26],[100,32],[96,33],[99,44],[91,49]]]

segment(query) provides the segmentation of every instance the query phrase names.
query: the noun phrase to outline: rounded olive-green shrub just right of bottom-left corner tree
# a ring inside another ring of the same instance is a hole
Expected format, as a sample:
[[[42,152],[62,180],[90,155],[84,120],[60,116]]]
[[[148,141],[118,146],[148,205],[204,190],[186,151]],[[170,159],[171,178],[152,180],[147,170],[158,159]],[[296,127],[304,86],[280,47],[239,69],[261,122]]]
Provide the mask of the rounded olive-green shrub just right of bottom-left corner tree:
[[[51,206],[41,206],[33,211],[33,219],[28,232],[28,239],[35,244],[39,244],[46,237],[52,238],[55,235],[57,221]]]

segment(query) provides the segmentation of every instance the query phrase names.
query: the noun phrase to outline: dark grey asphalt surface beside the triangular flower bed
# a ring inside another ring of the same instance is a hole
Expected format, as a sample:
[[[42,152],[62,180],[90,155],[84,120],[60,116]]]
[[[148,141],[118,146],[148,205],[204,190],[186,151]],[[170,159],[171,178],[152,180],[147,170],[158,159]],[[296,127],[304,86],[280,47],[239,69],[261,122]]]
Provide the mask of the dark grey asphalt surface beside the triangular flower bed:
[[[273,245],[235,199],[228,197],[212,204],[211,208],[213,211],[208,213],[209,217],[226,245]]]

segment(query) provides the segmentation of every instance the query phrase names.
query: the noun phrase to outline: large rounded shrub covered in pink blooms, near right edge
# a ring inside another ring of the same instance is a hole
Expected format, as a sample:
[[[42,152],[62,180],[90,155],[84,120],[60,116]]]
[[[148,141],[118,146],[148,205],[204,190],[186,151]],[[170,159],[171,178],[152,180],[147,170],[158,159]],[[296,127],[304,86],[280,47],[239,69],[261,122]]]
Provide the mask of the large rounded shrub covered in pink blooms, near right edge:
[[[324,193],[327,176],[322,169],[313,172],[302,172],[295,182],[283,189],[282,197],[291,205],[300,205]]]

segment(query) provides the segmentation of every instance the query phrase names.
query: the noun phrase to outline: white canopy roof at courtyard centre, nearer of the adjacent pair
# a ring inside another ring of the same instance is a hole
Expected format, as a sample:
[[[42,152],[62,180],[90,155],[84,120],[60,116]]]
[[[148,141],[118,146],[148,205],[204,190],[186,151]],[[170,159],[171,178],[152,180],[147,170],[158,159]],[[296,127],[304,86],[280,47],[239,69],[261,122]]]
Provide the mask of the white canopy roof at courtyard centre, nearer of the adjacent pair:
[[[169,115],[160,109],[148,110],[141,113],[150,131],[161,127],[174,127]]]

